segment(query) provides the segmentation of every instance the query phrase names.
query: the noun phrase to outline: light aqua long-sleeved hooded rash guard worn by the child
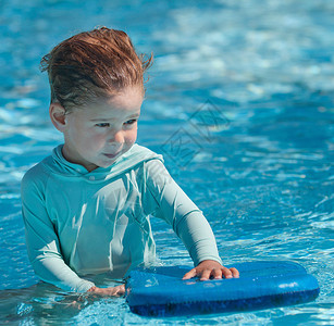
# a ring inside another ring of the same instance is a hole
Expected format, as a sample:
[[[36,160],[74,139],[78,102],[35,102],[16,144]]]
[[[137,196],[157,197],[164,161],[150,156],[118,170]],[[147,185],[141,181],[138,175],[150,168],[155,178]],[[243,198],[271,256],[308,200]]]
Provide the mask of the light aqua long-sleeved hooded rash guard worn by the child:
[[[122,278],[156,258],[149,216],[164,220],[195,265],[221,259],[202,212],[177,186],[163,158],[134,145],[111,166],[88,172],[62,155],[62,146],[22,180],[28,258],[44,281],[85,292],[85,275]]]

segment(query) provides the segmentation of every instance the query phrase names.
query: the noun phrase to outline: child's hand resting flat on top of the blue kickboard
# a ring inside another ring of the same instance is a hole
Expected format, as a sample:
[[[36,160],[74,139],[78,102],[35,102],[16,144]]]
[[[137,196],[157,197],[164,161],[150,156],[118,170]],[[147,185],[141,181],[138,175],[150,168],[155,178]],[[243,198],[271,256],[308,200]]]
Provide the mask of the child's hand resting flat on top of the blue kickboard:
[[[207,280],[210,279],[210,277],[220,279],[222,277],[224,278],[238,278],[239,277],[239,272],[232,267],[232,268],[226,268],[222,266],[219,262],[217,261],[202,261],[199,263],[195,268],[189,271],[183,276],[183,279],[189,279],[191,277],[199,276],[200,280]]]

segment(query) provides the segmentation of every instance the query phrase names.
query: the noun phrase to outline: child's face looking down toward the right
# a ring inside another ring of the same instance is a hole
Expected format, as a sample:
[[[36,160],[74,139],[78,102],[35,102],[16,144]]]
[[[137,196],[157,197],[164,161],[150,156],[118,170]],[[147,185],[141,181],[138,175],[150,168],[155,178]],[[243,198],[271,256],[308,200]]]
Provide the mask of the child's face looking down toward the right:
[[[128,87],[116,96],[74,109],[65,116],[64,158],[92,171],[110,166],[137,139],[143,89]]]

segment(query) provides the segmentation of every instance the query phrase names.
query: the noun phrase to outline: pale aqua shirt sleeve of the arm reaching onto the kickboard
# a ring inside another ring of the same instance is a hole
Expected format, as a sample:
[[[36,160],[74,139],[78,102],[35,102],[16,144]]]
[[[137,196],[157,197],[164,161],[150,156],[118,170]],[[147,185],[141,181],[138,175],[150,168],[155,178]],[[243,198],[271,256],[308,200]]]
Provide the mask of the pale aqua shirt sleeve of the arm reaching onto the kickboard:
[[[163,163],[145,163],[145,204],[153,216],[164,220],[184,242],[195,266],[205,260],[222,264],[213,231],[197,205],[174,181]]]

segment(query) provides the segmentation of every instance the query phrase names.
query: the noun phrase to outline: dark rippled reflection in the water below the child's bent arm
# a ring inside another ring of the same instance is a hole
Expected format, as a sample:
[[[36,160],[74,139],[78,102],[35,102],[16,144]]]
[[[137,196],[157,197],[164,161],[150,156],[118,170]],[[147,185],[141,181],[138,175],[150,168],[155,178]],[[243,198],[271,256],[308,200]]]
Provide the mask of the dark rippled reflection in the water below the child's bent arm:
[[[99,306],[104,306],[104,309],[108,306],[111,311],[120,309],[124,304],[124,298],[70,294],[41,283],[20,291],[3,290],[0,292],[0,310],[3,314],[1,322],[3,324],[22,322],[28,325],[35,325],[35,323],[46,325],[61,324],[73,319],[73,325],[77,325],[75,321],[85,314],[85,322],[90,325],[94,321],[88,323],[87,318],[92,319],[94,315],[101,315]],[[91,312],[89,313],[89,311]]]

